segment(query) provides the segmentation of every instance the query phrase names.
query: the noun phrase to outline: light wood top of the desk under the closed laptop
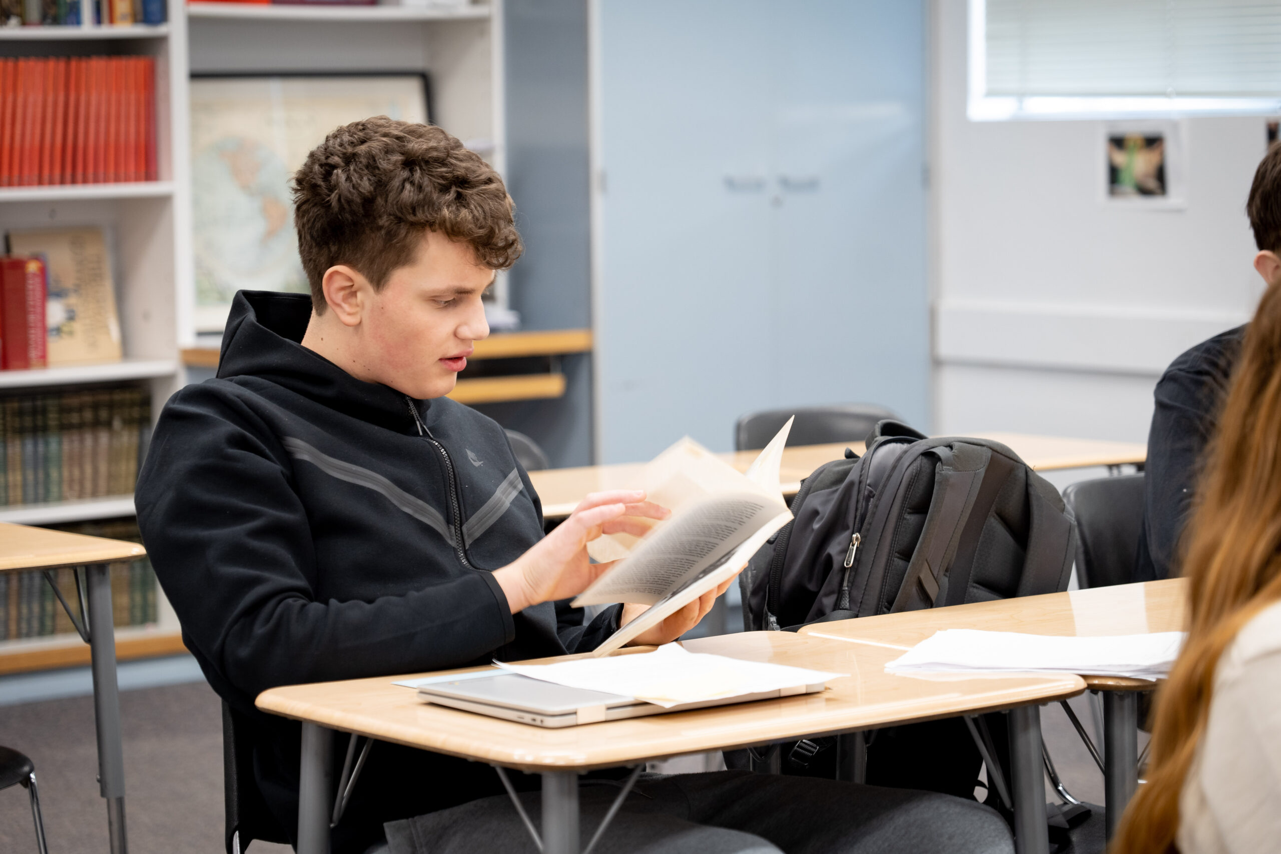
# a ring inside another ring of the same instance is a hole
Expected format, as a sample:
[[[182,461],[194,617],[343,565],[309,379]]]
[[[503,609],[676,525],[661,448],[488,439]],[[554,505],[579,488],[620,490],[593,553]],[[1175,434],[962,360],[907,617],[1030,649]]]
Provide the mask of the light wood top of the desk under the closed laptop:
[[[685,647],[851,676],[828,682],[821,694],[562,730],[424,703],[414,689],[392,684],[405,676],[275,688],[259,694],[257,707],[334,730],[541,772],[588,771],[776,739],[1012,708],[1073,697],[1085,689],[1085,682],[1071,675],[949,681],[894,676],[885,673],[884,666],[899,654],[895,649],[792,632],[722,635],[687,641]]]

